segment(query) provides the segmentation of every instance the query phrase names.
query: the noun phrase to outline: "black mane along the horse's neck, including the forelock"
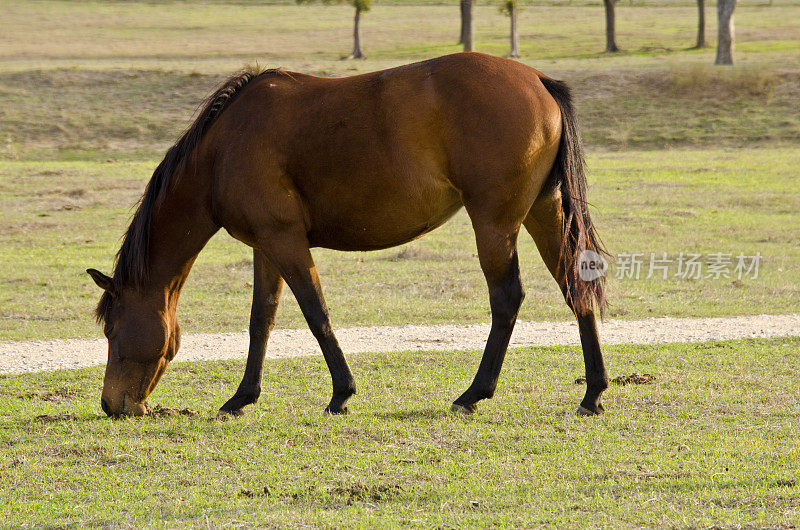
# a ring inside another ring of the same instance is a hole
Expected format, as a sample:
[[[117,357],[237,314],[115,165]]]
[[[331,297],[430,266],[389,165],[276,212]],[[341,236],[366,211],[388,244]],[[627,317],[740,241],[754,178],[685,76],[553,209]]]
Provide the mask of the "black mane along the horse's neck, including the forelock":
[[[122,245],[114,260],[114,280],[117,284],[141,288],[148,276],[148,247],[150,243],[150,220],[153,212],[164,201],[167,193],[185,172],[187,163],[196,156],[200,139],[228,106],[236,99],[245,85],[260,75],[275,70],[246,67],[234,75],[208,96],[199,106],[201,109],[192,125],[180,139],[167,150],[158,164],[139,200],[136,213],[125,232]],[[106,319],[111,310],[112,295],[103,293],[97,304],[97,322]]]

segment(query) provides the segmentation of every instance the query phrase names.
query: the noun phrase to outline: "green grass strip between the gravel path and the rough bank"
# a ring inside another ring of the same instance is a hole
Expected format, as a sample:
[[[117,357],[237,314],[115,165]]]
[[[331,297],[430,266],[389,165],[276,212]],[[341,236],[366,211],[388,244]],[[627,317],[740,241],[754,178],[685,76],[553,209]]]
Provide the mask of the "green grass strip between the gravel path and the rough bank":
[[[590,197],[612,254],[712,252],[755,255],[758,278],[610,278],[610,316],[721,316],[797,310],[800,196],[793,149],[603,153],[589,159]],[[132,205],[155,162],[0,163],[0,338],[99,335],[99,292],[87,267],[111,269]],[[570,319],[536,247],[522,232],[524,320]],[[334,326],[481,322],[488,296],[469,219],[369,253],[314,251]],[[613,272],[613,271],[612,271]],[[189,277],[184,332],[246,327],[252,288],[248,247],[220,233]],[[746,302],[744,302],[746,301]],[[278,327],[302,327],[286,291]]]

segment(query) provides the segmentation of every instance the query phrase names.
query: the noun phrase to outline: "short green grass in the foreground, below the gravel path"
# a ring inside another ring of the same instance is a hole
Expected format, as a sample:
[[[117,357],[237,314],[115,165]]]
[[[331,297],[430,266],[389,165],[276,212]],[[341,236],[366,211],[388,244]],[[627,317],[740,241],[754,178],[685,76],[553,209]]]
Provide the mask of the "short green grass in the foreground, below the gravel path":
[[[512,350],[495,398],[449,415],[477,352],[352,358],[325,417],[321,358],[267,363],[261,401],[214,421],[242,362],[173,366],[112,421],[100,368],[0,377],[3,526],[786,527],[800,518],[800,340],[606,348],[608,413],[572,414],[577,348]],[[46,415],[45,419],[37,416]],[[69,415],[73,415],[70,417]],[[269,494],[264,494],[264,487]]]

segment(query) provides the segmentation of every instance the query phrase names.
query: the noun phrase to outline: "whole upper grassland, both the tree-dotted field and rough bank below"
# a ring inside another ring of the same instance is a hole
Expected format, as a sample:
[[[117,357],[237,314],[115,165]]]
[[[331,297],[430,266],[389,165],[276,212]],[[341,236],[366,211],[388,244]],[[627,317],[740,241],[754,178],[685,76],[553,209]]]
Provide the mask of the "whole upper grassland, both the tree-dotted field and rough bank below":
[[[339,60],[349,50],[346,7],[8,2],[4,14],[7,159],[157,158],[200,100],[246,62],[348,75],[458,51],[451,6],[376,5],[365,16],[367,61]],[[621,4],[619,40],[629,50],[621,55],[599,53],[601,14],[596,6],[531,6],[520,21],[524,61],[574,86],[591,147],[800,139],[800,30],[791,24],[800,5],[742,3],[734,69],[711,66],[713,49],[686,50],[692,5]],[[506,22],[495,7],[480,6],[477,49],[504,54]],[[28,38],[41,31],[52,38]]]

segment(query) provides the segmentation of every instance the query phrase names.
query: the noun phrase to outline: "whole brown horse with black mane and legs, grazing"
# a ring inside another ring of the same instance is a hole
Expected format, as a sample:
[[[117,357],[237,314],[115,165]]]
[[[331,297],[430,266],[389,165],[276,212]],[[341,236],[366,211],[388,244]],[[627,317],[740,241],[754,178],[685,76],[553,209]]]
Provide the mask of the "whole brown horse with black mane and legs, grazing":
[[[472,221],[492,327],[477,375],[453,404],[490,398],[524,297],[521,226],[533,237],[580,329],[586,396],[603,411],[608,376],[593,308],[603,279],[579,258],[602,252],[586,204],[567,86],[518,62],[459,53],[340,79],[245,71],[209,97],[169,149],[139,204],[97,307],[108,337],[101,405],[141,415],[180,345],[176,307],[197,254],[220,227],[253,248],[250,349],[221,411],[261,392],[267,338],[285,281],[333,380],[326,411],[347,412],[355,380],[331,324],[309,249],[373,250],[411,241],[461,207]]]

